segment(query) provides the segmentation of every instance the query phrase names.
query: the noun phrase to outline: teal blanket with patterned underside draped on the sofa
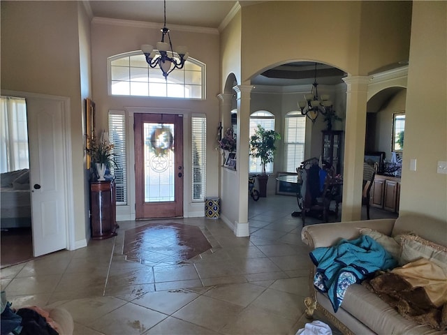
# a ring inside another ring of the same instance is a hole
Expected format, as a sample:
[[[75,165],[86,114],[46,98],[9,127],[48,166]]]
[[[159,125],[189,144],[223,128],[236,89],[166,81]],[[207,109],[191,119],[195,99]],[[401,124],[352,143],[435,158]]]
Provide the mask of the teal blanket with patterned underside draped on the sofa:
[[[315,248],[310,258],[316,266],[314,285],[328,297],[337,312],[349,285],[360,283],[377,270],[392,269],[397,261],[369,236],[342,239],[335,246]]]

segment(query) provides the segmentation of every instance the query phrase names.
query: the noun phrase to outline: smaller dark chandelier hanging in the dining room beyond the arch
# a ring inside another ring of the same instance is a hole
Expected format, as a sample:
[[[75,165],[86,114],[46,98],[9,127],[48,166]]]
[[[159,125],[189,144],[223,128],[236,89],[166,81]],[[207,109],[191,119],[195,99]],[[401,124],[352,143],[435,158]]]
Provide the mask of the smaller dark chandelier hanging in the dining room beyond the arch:
[[[318,97],[318,83],[316,82],[316,63],[315,63],[315,79],[314,84],[312,84],[312,90],[310,94],[305,94],[304,101],[298,101],[298,107],[300,107],[301,114],[307,116],[315,122],[318,114],[334,114],[335,111],[332,110],[332,101],[329,100],[329,94],[321,94]]]

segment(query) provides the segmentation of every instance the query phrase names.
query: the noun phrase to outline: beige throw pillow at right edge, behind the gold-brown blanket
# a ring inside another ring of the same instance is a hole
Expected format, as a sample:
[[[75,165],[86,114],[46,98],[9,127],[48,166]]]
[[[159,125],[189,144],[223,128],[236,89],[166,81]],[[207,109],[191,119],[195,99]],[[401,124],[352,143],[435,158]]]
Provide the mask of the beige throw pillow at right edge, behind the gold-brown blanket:
[[[425,258],[447,271],[447,247],[427,241],[420,236],[404,235],[402,237],[402,254],[399,264],[404,265],[420,258]]]

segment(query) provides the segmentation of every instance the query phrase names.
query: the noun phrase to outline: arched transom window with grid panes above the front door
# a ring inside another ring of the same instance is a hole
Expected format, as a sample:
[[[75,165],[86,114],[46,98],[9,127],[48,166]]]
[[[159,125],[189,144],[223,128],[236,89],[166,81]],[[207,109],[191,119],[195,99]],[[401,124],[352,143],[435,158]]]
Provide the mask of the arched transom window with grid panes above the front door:
[[[118,54],[108,58],[108,78],[112,96],[205,99],[205,64],[191,57],[165,80],[161,69],[151,68],[141,51]]]

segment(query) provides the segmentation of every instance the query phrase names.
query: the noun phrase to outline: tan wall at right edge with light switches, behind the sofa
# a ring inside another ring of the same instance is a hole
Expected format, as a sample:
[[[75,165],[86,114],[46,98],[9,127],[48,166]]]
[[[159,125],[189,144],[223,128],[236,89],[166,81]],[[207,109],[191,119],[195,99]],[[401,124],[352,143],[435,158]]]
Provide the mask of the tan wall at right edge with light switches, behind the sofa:
[[[429,51],[430,50],[430,51]],[[447,2],[415,1],[411,27],[400,215],[447,218]],[[416,171],[409,170],[416,159]]]

